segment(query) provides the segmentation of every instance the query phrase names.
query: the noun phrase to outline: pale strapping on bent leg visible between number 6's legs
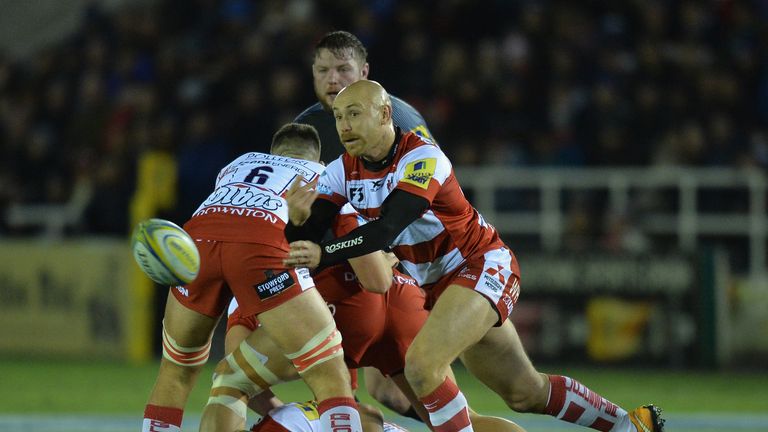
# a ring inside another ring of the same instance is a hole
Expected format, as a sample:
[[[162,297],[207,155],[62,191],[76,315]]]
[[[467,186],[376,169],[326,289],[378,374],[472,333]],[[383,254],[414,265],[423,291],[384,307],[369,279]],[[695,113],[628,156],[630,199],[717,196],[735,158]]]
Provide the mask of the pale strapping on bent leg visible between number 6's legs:
[[[218,371],[214,375],[212,395],[217,389],[222,392],[224,389],[234,389],[251,398],[281,382],[264,364],[268,357],[251,348],[245,341],[225,360],[229,370]]]

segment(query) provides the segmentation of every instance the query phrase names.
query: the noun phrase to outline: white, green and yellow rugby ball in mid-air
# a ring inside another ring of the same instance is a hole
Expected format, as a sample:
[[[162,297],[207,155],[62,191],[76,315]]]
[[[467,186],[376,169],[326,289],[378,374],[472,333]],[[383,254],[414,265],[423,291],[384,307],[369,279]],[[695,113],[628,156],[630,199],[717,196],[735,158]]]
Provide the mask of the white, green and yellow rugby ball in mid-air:
[[[200,253],[192,237],[164,219],[147,219],[131,236],[133,258],[153,281],[163,285],[192,282],[200,271]]]

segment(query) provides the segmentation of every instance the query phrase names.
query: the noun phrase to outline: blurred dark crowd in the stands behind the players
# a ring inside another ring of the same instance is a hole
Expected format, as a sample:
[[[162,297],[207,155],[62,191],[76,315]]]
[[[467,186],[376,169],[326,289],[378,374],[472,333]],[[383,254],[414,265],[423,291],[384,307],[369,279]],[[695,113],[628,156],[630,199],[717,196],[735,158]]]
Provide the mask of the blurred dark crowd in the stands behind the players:
[[[455,165],[768,165],[768,2],[481,3],[94,2],[59,43],[0,54],[0,212],[80,199],[69,232],[125,235],[137,164],[164,151],[183,222],[315,101],[312,48],[335,29]],[[34,232],[7,219],[0,235]]]

